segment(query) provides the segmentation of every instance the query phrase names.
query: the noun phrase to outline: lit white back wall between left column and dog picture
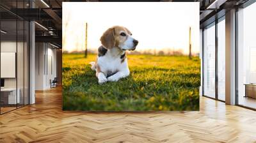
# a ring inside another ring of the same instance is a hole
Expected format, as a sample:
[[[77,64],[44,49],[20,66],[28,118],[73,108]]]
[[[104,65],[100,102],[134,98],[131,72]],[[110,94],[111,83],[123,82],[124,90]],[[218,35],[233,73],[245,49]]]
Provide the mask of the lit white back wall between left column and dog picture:
[[[56,49],[53,48],[49,43],[36,43],[36,90],[51,88],[50,80],[56,77]]]

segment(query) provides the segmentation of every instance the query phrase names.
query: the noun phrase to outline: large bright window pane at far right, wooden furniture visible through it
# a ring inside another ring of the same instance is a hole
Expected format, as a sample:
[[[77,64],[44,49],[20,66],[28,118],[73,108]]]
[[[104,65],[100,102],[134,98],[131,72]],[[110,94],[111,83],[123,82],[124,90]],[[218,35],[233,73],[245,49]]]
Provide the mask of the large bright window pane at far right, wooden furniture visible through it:
[[[238,104],[256,109],[256,3],[238,11]]]

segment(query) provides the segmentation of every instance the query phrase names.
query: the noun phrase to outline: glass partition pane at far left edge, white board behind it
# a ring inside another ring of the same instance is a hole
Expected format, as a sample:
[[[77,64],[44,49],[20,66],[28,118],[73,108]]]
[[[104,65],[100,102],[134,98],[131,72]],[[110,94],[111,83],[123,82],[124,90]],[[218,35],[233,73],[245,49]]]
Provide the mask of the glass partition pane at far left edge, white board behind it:
[[[17,22],[1,21],[1,113],[16,109]]]

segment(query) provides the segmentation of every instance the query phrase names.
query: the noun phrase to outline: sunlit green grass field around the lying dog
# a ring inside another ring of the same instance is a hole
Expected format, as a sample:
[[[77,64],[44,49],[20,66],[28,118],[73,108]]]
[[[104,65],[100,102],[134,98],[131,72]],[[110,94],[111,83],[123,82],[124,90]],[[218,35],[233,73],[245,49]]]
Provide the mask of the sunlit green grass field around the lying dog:
[[[128,55],[131,74],[99,85],[96,55],[63,54],[63,110],[199,110],[200,59]]]

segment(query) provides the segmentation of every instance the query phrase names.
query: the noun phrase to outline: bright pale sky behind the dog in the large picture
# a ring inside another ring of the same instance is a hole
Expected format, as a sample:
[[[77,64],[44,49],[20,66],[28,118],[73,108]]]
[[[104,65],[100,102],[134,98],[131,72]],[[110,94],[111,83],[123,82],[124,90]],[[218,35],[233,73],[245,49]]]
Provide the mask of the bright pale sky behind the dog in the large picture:
[[[109,27],[127,27],[140,43],[136,50],[182,49],[199,52],[199,3],[63,3],[63,51],[81,51],[88,23],[88,49],[97,49]]]

